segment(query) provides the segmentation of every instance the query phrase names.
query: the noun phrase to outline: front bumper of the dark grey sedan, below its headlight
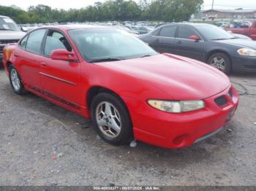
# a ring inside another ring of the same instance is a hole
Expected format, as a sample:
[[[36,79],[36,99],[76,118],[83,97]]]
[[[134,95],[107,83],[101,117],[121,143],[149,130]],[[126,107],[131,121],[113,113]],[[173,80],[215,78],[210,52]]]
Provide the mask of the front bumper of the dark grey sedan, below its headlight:
[[[249,56],[234,56],[232,58],[233,71],[255,72],[256,58]]]

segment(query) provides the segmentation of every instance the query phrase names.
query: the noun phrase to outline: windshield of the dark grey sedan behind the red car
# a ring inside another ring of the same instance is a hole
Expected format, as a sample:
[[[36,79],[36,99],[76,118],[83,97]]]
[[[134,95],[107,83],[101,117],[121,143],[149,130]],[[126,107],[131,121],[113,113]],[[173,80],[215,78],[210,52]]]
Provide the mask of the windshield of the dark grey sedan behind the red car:
[[[227,31],[213,25],[196,26],[197,30],[202,34],[207,40],[222,40],[222,39],[234,39],[236,38]]]

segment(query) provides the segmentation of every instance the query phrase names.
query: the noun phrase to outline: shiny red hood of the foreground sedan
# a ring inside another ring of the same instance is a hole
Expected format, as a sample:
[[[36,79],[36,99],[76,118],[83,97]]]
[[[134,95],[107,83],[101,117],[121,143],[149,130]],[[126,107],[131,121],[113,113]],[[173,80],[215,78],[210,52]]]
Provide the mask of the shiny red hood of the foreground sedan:
[[[176,55],[154,55],[96,64],[135,77],[167,93],[174,100],[208,98],[230,86],[230,80],[221,71]]]

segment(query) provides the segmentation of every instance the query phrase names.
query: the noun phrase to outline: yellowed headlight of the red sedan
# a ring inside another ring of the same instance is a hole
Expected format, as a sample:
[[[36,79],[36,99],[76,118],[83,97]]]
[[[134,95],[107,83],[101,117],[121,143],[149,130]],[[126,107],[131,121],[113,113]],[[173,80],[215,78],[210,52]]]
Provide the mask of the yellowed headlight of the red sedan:
[[[203,109],[206,105],[202,100],[195,101],[161,101],[161,100],[148,100],[148,104],[155,109],[164,112],[181,113],[190,112],[197,109]]]

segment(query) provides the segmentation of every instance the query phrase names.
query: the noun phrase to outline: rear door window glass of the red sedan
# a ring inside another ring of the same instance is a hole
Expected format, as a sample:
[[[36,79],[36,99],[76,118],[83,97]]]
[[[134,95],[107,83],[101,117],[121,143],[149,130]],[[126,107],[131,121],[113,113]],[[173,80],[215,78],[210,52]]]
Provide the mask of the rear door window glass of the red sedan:
[[[46,29],[39,29],[29,34],[29,39],[26,42],[26,50],[37,54],[41,53],[42,39],[45,36]]]

